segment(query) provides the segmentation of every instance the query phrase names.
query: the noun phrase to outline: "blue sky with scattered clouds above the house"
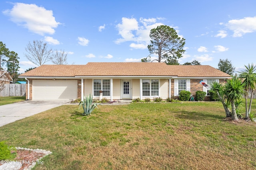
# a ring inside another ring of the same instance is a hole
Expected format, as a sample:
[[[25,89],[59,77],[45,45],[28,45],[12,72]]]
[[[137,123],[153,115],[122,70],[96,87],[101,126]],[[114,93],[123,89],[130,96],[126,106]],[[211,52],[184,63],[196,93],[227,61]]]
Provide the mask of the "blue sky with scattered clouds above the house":
[[[21,73],[35,66],[24,57],[34,40],[66,51],[68,64],[140,62],[150,29],[169,25],[186,39],[180,64],[228,59],[241,70],[256,64],[255,9],[255,0],[1,0],[0,41],[18,53]]]

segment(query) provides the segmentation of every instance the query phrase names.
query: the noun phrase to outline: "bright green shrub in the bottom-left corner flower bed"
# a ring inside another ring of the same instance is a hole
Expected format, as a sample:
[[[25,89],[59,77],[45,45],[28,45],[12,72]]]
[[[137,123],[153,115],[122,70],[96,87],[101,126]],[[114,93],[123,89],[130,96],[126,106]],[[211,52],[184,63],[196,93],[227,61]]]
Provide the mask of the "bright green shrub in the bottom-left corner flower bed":
[[[0,142],[0,160],[13,160],[16,157],[16,153],[12,152],[16,150],[14,147],[9,147],[6,141]]]

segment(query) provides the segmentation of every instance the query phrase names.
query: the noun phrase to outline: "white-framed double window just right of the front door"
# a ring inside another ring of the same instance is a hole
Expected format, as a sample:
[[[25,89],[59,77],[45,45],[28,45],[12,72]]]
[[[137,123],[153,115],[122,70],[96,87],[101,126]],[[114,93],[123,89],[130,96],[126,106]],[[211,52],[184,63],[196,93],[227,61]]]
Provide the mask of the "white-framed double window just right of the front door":
[[[142,96],[159,96],[159,80],[142,80]]]

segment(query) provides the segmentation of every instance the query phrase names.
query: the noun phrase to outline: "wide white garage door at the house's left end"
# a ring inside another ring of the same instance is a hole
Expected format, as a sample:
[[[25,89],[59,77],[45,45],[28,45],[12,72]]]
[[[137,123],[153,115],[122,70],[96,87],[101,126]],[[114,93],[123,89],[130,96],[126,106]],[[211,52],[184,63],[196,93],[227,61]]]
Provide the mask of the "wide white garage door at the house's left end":
[[[77,98],[77,80],[33,80],[33,100]]]

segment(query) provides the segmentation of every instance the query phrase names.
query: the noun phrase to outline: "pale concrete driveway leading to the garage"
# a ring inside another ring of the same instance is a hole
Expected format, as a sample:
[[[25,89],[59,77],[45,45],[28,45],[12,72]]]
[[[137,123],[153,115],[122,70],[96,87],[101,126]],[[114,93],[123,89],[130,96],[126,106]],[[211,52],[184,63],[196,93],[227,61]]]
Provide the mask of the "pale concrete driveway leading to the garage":
[[[0,127],[69,102],[67,100],[24,101],[0,106]]]

